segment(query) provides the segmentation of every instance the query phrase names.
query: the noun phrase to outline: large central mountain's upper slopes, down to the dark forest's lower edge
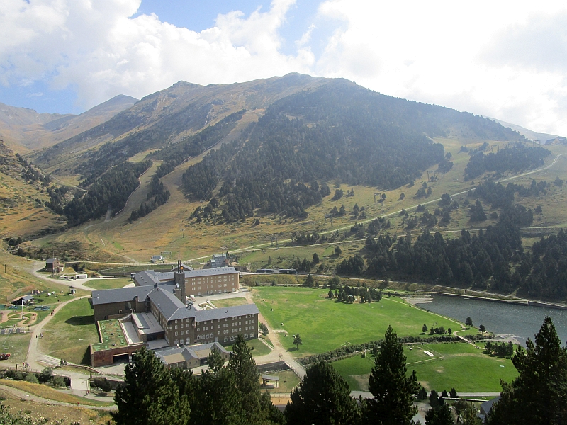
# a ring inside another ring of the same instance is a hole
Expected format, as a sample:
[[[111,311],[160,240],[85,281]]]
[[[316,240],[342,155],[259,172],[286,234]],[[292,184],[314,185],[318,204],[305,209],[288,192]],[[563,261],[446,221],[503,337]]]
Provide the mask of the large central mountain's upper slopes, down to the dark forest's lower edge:
[[[147,215],[169,199],[159,179],[211,148],[183,176],[188,196],[210,200],[218,193],[225,222],[257,210],[304,218],[305,208],[330,194],[325,182],[332,179],[391,189],[434,164],[450,167],[432,138],[459,135],[524,139],[471,113],[384,96],[344,79],[288,74],[239,84],[179,82],[33,160],[67,181],[79,176],[89,188],[67,205],[52,200],[69,225],[122,210],[140,175],[159,161],[148,202],[131,218]]]

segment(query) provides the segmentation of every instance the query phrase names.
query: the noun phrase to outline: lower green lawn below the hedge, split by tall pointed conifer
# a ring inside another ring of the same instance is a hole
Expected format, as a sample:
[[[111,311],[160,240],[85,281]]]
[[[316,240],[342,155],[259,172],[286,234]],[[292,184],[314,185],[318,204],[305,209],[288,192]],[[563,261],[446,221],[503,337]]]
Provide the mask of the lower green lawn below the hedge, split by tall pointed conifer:
[[[418,347],[422,349],[418,349]],[[427,356],[430,351],[434,357]],[[490,357],[470,344],[423,344],[404,347],[408,373],[415,370],[417,380],[428,390],[457,392],[500,391],[500,379],[510,382],[517,376],[512,361]],[[366,390],[374,358],[354,356],[332,363],[349,383],[351,390]],[[504,367],[500,367],[504,366]]]

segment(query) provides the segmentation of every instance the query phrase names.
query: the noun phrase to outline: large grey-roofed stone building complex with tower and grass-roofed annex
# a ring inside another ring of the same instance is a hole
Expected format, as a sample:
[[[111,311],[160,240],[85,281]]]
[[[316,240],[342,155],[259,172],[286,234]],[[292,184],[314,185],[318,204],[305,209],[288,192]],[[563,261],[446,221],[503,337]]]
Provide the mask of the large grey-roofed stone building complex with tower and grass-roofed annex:
[[[256,305],[201,310],[186,302],[186,288],[193,285],[213,287],[209,290],[216,293],[235,290],[232,283],[237,282],[237,276],[235,280],[232,276],[238,273],[222,268],[216,271],[222,273],[188,273],[179,264],[171,273],[136,273],[138,286],[133,288],[94,290],[92,305],[101,343],[91,346],[92,365],[111,364],[115,356],[131,355],[141,345],[224,345],[231,344],[238,334],[257,338]]]

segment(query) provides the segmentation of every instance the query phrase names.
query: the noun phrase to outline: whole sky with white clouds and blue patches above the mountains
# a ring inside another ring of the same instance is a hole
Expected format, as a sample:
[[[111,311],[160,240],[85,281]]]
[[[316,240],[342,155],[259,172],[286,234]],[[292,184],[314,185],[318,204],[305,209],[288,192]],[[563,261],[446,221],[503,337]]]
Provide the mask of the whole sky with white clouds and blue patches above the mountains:
[[[0,102],[300,72],[567,136],[567,2],[1,0]]]

